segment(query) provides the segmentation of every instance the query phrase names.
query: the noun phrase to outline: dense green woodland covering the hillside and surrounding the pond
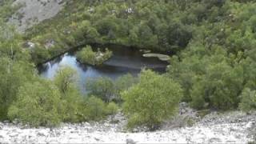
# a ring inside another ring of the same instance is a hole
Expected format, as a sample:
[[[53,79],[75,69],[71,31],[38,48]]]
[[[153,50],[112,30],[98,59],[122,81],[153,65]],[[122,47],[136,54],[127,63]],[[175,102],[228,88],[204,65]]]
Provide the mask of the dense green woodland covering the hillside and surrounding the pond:
[[[14,7],[3,1],[0,118],[58,126],[122,110],[129,127],[154,130],[177,114],[179,102],[196,110],[256,110],[255,7],[254,0],[74,0],[18,34],[6,24]],[[24,42],[35,47],[23,48]],[[92,79],[87,96],[70,68],[54,80],[38,76],[38,63],[93,43],[161,51],[171,54],[170,66],[165,74],[142,70],[138,78]]]

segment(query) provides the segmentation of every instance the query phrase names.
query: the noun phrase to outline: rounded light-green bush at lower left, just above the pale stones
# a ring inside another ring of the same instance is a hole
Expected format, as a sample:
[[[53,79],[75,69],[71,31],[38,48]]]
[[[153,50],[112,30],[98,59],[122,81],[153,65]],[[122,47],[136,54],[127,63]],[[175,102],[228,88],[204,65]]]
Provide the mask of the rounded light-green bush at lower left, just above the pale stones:
[[[17,101],[10,106],[8,116],[31,126],[56,126],[62,120],[61,110],[61,95],[56,86],[40,80],[19,88]]]

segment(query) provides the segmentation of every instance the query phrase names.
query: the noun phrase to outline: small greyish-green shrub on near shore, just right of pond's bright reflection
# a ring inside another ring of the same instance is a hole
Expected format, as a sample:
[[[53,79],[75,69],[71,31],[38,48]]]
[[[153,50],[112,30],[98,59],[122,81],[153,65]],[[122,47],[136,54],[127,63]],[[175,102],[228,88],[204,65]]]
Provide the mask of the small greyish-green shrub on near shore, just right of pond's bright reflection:
[[[106,77],[88,79],[86,90],[90,95],[101,98],[104,102],[110,102],[111,97],[114,96],[114,82]]]

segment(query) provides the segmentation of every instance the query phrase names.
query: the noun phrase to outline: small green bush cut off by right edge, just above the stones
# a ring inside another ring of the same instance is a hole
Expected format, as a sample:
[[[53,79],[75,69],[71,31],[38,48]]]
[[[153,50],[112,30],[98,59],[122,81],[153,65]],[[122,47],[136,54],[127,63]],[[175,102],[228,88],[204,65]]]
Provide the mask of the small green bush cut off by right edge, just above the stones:
[[[256,91],[246,88],[242,91],[239,107],[243,111],[256,110]]]

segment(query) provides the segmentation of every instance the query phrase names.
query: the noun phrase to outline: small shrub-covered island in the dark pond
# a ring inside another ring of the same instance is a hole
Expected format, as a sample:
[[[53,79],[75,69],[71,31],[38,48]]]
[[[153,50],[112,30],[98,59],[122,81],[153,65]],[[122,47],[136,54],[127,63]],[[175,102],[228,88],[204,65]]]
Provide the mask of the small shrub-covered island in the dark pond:
[[[77,60],[81,63],[90,64],[93,66],[102,65],[103,62],[106,62],[113,55],[112,51],[105,49],[101,51],[98,49],[97,52],[94,52],[91,46],[86,46],[77,53]]]

